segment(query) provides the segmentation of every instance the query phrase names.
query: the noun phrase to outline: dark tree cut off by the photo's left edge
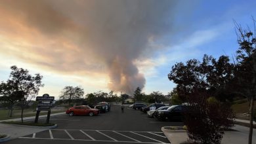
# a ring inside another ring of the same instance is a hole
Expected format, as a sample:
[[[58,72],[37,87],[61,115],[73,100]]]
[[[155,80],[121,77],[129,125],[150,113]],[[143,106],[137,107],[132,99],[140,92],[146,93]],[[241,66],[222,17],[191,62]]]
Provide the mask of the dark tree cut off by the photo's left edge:
[[[0,101],[3,101],[9,107],[9,117],[12,117],[14,105],[22,99],[22,92],[12,81],[1,82],[0,84]]]

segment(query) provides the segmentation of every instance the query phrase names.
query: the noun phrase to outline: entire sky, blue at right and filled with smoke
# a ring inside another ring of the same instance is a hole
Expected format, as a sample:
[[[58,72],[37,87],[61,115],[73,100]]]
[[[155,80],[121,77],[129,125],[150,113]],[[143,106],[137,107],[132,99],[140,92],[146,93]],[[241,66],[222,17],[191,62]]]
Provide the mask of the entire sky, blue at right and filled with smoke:
[[[253,27],[256,1],[0,0],[0,81],[10,67],[43,75],[39,96],[171,92],[172,65],[203,54],[232,57],[234,21]]]

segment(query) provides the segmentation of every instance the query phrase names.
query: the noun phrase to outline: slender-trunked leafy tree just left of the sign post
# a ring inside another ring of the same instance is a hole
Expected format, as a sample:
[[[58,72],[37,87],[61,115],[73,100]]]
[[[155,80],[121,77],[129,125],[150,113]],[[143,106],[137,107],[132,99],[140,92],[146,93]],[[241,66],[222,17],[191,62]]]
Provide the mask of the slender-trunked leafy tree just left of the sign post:
[[[35,74],[33,77],[29,74],[27,69],[18,68],[15,65],[11,66],[11,74],[8,81],[16,88],[16,91],[12,94],[21,97],[20,103],[22,109],[22,122],[24,107],[27,105],[28,100],[35,98],[40,90],[40,87],[44,86],[44,84],[41,83],[41,79],[43,79],[43,76],[41,76],[39,73]]]

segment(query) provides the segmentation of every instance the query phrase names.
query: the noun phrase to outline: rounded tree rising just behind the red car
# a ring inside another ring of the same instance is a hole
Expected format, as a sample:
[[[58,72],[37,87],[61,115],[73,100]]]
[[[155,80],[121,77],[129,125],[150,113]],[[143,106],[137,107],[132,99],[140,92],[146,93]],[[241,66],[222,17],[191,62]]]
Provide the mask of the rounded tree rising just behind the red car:
[[[84,91],[83,88],[79,86],[65,86],[60,94],[60,99],[68,100],[68,104],[71,105],[71,102],[75,99],[80,99],[83,97]]]

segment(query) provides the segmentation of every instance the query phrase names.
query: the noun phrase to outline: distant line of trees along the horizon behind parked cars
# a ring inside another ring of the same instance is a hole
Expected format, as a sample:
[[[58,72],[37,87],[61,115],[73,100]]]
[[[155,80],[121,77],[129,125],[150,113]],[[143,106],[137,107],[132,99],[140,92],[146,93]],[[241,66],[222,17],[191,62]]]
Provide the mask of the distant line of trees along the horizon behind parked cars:
[[[93,92],[84,95],[84,90],[81,86],[65,86],[60,94],[60,101],[58,103],[68,103],[68,105],[96,105],[100,101],[108,102],[121,102],[127,103],[125,101],[127,98],[133,99],[133,102],[140,103],[159,103],[161,101],[169,101],[168,97],[164,96],[161,92],[155,91],[150,94],[145,94],[142,90],[137,87],[132,96],[128,94],[117,95],[114,91],[110,92]]]

